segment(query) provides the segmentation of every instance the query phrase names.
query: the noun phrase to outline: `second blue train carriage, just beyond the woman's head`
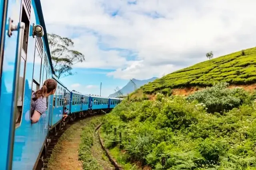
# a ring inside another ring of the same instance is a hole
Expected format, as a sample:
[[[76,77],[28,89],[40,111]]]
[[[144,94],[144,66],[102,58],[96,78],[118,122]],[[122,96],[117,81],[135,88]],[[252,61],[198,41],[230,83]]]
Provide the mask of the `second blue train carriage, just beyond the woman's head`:
[[[57,89],[53,95],[49,125],[50,130],[54,129],[57,132],[58,128],[61,127],[60,122],[63,118],[64,108],[70,109],[70,91],[56,76],[53,75],[52,78],[57,82]]]

